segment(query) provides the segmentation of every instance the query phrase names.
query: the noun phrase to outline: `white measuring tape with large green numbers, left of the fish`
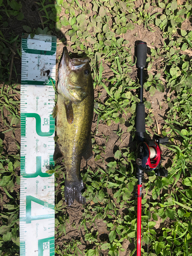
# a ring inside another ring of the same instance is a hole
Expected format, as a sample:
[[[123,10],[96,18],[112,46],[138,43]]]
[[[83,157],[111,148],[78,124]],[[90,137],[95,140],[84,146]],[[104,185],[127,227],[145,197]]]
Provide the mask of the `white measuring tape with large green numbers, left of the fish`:
[[[20,88],[20,256],[55,252],[54,166],[56,37],[22,38]]]

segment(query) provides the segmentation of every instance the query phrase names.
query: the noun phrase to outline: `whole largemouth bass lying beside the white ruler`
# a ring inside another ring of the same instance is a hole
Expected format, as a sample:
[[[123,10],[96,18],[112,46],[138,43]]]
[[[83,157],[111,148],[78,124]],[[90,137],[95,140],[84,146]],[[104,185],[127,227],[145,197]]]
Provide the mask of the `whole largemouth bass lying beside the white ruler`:
[[[92,157],[91,125],[94,109],[94,89],[89,58],[70,58],[67,48],[59,65],[56,116],[58,140],[54,161],[63,156],[66,166],[65,199],[83,204],[83,181],[80,176],[81,158]]]

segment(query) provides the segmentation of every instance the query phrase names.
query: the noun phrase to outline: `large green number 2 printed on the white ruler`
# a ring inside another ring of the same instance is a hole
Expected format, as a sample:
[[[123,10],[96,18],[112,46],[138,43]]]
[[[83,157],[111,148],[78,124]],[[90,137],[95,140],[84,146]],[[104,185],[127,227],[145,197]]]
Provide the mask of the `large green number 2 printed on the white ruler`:
[[[21,113],[20,114],[20,125],[21,125],[21,136],[25,137],[26,136],[26,117],[34,117],[36,120],[36,133],[38,134],[38,136],[41,137],[47,137],[47,136],[51,136],[54,134],[55,132],[55,121],[53,119],[53,116],[50,115],[50,130],[49,132],[42,132],[41,131],[41,119],[40,116],[36,113]]]

